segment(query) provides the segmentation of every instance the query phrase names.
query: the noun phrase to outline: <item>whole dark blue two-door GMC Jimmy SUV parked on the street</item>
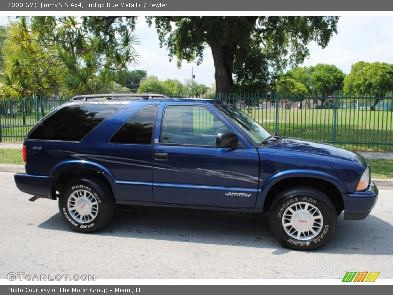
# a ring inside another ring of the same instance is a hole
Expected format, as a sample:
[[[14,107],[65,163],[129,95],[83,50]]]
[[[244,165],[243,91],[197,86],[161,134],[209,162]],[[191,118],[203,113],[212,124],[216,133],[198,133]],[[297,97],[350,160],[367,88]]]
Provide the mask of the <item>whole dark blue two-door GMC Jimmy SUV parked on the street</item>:
[[[362,156],[271,135],[217,100],[77,96],[31,129],[23,158],[18,188],[58,198],[80,232],[102,229],[116,204],[268,212],[284,246],[312,250],[342,211],[363,219],[378,195]]]

